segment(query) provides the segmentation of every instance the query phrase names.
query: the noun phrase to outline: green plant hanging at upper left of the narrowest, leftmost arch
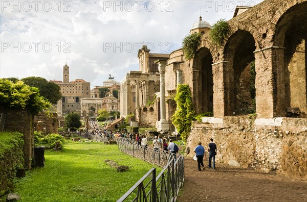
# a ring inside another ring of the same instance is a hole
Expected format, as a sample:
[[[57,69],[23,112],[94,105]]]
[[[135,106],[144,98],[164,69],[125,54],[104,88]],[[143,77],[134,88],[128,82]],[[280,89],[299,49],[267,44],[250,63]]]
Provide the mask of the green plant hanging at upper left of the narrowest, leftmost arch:
[[[201,36],[200,33],[193,33],[183,39],[182,48],[187,60],[194,58],[196,50],[201,44]]]

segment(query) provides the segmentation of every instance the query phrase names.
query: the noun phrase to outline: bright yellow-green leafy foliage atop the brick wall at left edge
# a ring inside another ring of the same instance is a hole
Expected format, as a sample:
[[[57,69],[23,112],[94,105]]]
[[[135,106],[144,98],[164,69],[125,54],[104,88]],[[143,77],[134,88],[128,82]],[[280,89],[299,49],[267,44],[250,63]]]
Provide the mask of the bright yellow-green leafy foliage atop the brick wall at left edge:
[[[51,108],[50,102],[39,95],[38,88],[30,87],[23,81],[0,79],[0,106],[8,109],[26,109],[33,115]]]

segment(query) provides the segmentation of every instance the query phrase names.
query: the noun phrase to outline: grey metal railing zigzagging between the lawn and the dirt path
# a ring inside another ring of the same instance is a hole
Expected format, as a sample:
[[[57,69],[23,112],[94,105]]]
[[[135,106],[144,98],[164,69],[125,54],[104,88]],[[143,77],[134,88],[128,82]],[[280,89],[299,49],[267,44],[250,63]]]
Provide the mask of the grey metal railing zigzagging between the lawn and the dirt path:
[[[140,146],[127,139],[117,138],[122,152],[161,166],[163,170],[156,177],[156,168],[150,169],[117,201],[176,201],[184,182],[184,156],[175,158],[172,153]]]

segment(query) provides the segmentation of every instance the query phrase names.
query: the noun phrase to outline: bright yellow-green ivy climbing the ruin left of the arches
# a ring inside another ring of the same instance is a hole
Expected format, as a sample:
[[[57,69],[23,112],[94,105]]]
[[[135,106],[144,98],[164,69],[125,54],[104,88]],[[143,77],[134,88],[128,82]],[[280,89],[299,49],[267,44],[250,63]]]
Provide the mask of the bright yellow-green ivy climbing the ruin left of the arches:
[[[177,102],[177,109],[171,118],[172,123],[175,125],[183,141],[186,141],[191,131],[192,120],[195,114],[189,85],[179,84],[174,99]]]

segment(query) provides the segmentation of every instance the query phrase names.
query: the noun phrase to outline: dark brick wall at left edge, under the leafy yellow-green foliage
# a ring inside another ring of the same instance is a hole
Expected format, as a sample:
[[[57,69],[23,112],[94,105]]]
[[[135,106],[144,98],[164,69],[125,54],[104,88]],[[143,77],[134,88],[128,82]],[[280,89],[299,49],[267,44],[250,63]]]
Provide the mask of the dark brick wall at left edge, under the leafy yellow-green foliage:
[[[4,131],[24,134],[25,169],[31,169],[34,148],[34,116],[27,110],[5,110],[0,108],[0,113],[3,112],[6,117]]]

